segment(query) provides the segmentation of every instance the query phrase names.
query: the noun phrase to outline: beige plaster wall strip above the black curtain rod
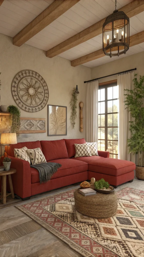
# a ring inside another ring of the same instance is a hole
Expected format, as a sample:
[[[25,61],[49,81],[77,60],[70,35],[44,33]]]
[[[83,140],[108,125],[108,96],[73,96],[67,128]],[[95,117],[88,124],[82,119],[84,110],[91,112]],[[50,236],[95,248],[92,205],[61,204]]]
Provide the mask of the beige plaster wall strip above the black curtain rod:
[[[137,73],[138,76],[144,75],[144,51],[92,68],[91,77],[94,79],[134,68],[137,68],[135,73]],[[99,79],[98,81],[101,83],[113,79],[117,79],[117,75]]]

